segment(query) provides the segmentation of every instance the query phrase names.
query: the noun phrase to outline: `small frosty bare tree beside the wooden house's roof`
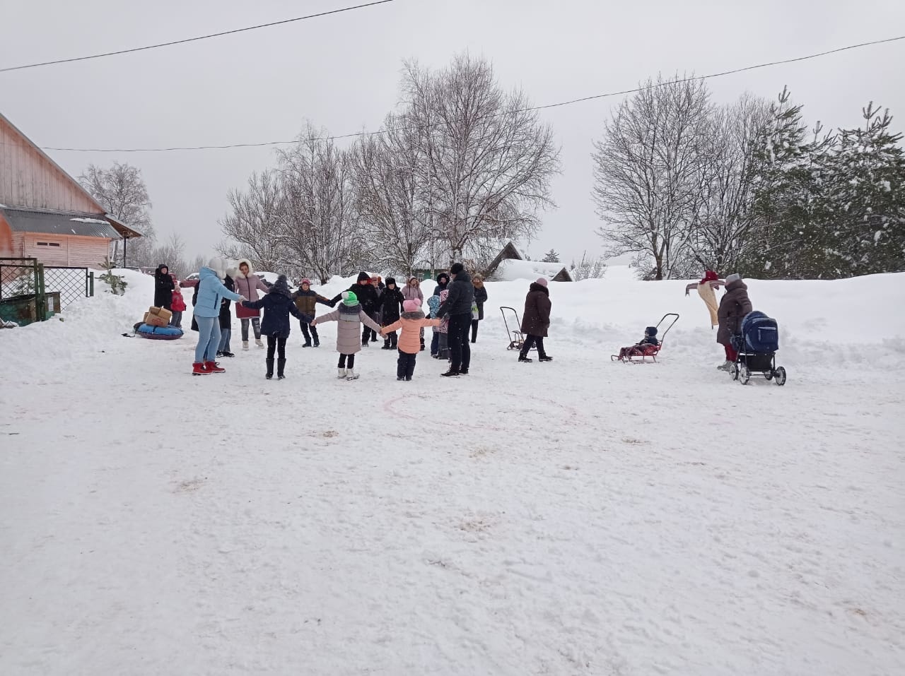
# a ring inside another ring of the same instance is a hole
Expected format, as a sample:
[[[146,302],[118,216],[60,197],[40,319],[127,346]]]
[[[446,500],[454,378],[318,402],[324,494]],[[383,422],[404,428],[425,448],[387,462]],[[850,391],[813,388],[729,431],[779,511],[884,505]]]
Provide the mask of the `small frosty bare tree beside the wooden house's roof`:
[[[142,234],[141,238],[133,240],[129,245],[129,262],[139,266],[147,265],[157,236],[151,224],[148,187],[141,177],[141,171],[131,164],[119,162],[114,162],[110,169],[89,164],[85,173],[79,176],[79,183],[100,202],[107,213]],[[127,261],[122,259],[119,251],[119,239],[114,239],[110,244],[110,258],[125,267]]]

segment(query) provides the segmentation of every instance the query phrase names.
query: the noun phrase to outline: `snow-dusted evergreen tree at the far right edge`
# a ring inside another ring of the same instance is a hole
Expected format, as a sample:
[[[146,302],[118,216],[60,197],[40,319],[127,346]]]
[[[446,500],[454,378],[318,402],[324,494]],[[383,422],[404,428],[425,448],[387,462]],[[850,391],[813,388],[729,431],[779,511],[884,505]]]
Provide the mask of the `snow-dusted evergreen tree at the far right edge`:
[[[864,126],[840,130],[822,206],[828,276],[905,270],[905,153],[889,110],[862,108]]]

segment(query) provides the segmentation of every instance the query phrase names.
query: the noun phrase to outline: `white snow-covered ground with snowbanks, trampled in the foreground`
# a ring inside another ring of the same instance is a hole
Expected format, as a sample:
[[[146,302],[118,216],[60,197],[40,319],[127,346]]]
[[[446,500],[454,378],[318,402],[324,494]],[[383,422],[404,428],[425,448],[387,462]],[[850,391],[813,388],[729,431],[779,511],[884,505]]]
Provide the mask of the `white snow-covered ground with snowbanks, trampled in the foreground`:
[[[459,379],[338,381],[324,324],[267,381],[238,322],[193,378],[194,333],[121,337],[126,274],[0,330],[0,673],[905,673],[905,275],[749,282],[780,388],[619,268],[550,285],[550,363],[505,349],[521,280]]]

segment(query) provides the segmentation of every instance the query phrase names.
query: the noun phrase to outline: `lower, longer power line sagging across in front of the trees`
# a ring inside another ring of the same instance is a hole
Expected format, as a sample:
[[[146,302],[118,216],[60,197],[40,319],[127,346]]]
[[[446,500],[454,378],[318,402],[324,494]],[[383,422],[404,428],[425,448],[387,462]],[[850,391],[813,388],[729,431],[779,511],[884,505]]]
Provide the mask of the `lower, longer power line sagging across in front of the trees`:
[[[386,2],[387,0],[384,0]],[[714,78],[721,78],[726,75],[733,75],[739,72],[745,72],[746,70],[757,70],[758,68],[768,68],[770,66],[780,66],[786,63],[795,63],[796,61],[807,61],[809,59],[817,59],[822,56],[827,56],[829,54],[835,54],[838,52],[847,52],[849,50],[859,49],[861,47],[870,47],[875,44],[883,44],[885,42],[896,42],[899,40],[905,40],[905,35],[900,35],[899,37],[894,38],[886,38],[884,40],[874,40],[872,42],[860,42],[858,44],[850,44],[845,47],[839,47],[838,49],[829,50],[827,52],[818,52],[815,54],[808,54],[806,56],[797,56],[792,59],[784,59],[782,61],[768,61],[767,63],[758,63],[753,66],[744,66],[742,68],[736,68],[733,70],[721,70],[719,72],[710,73],[710,75],[700,75],[691,78],[682,78],[681,80],[670,80],[667,82],[658,82],[653,85],[647,85],[644,87],[636,87],[634,89],[623,89],[621,91],[610,91],[605,94],[594,94],[592,96],[582,97],[580,99],[570,99],[567,101],[559,101],[558,103],[548,103],[543,106],[532,106],[530,108],[521,108],[518,112],[527,112],[530,110],[544,110],[546,108],[560,108],[563,106],[571,106],[576,103],[584,103],[585,101],[591,101],[595,99],[605,99],[608,97],[614,96],[624,96],[625,94],[634,94],[639,91],[643,91],[645,89],[656,89],[658,87],[666,87],[673,84],[681,83],[681,82],[691,82],[694,80],[712,80]],[[499,115],[499,113],[495,114]],[[492,116],[491,116],[492,117]],[[427,125],[425,127],[432,127],[433,125]],[[376,136],[377,134],[386,134],[388,129],[380,129],[378,131],[363,131],[363,132],[355,132],[352,134],[342,134],[338,136],[323,136],[320,138],[312,139],[316,141],[336,141],[344,138],[355,138],[358,136]],[[298,140],[292,141],[265,141],[262,143],[237,143],[237,144],[229,144],[226,146],[174,146],[174,147],[164,147],[164,148],[61,148],[61,147],[50,147],[50,146],[42,146],[43,150],[57,150],[57,151],[70,151],[73,153],[166,153],[176,150],[222,150],[227,148],[249,148],[249,147],[262,147],[262,146],[288,146],[291,144],[298,143]]]

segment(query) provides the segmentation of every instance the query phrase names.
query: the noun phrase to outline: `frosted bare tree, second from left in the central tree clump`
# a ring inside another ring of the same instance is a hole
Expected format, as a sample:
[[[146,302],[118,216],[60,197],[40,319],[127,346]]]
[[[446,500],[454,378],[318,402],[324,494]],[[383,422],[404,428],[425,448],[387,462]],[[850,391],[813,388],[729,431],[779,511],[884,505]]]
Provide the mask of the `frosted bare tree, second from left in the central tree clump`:
[[[290,150],[280,152],[281,224],[274,244],[321,284],[360,265],[365,248],[357,228],[348,152],[309,125]]]

